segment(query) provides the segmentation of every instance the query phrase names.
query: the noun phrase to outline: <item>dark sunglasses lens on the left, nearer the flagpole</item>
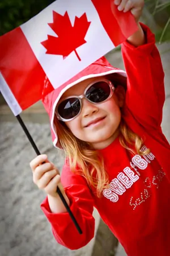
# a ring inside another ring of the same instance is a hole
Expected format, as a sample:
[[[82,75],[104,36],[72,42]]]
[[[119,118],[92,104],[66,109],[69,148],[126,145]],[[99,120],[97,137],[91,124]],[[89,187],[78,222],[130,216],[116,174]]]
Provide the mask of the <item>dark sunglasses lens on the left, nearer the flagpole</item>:
[[[80,111],[80,101],[78,98],[67,98],[58,106],[58,114],[65,119],[75,117]]]

